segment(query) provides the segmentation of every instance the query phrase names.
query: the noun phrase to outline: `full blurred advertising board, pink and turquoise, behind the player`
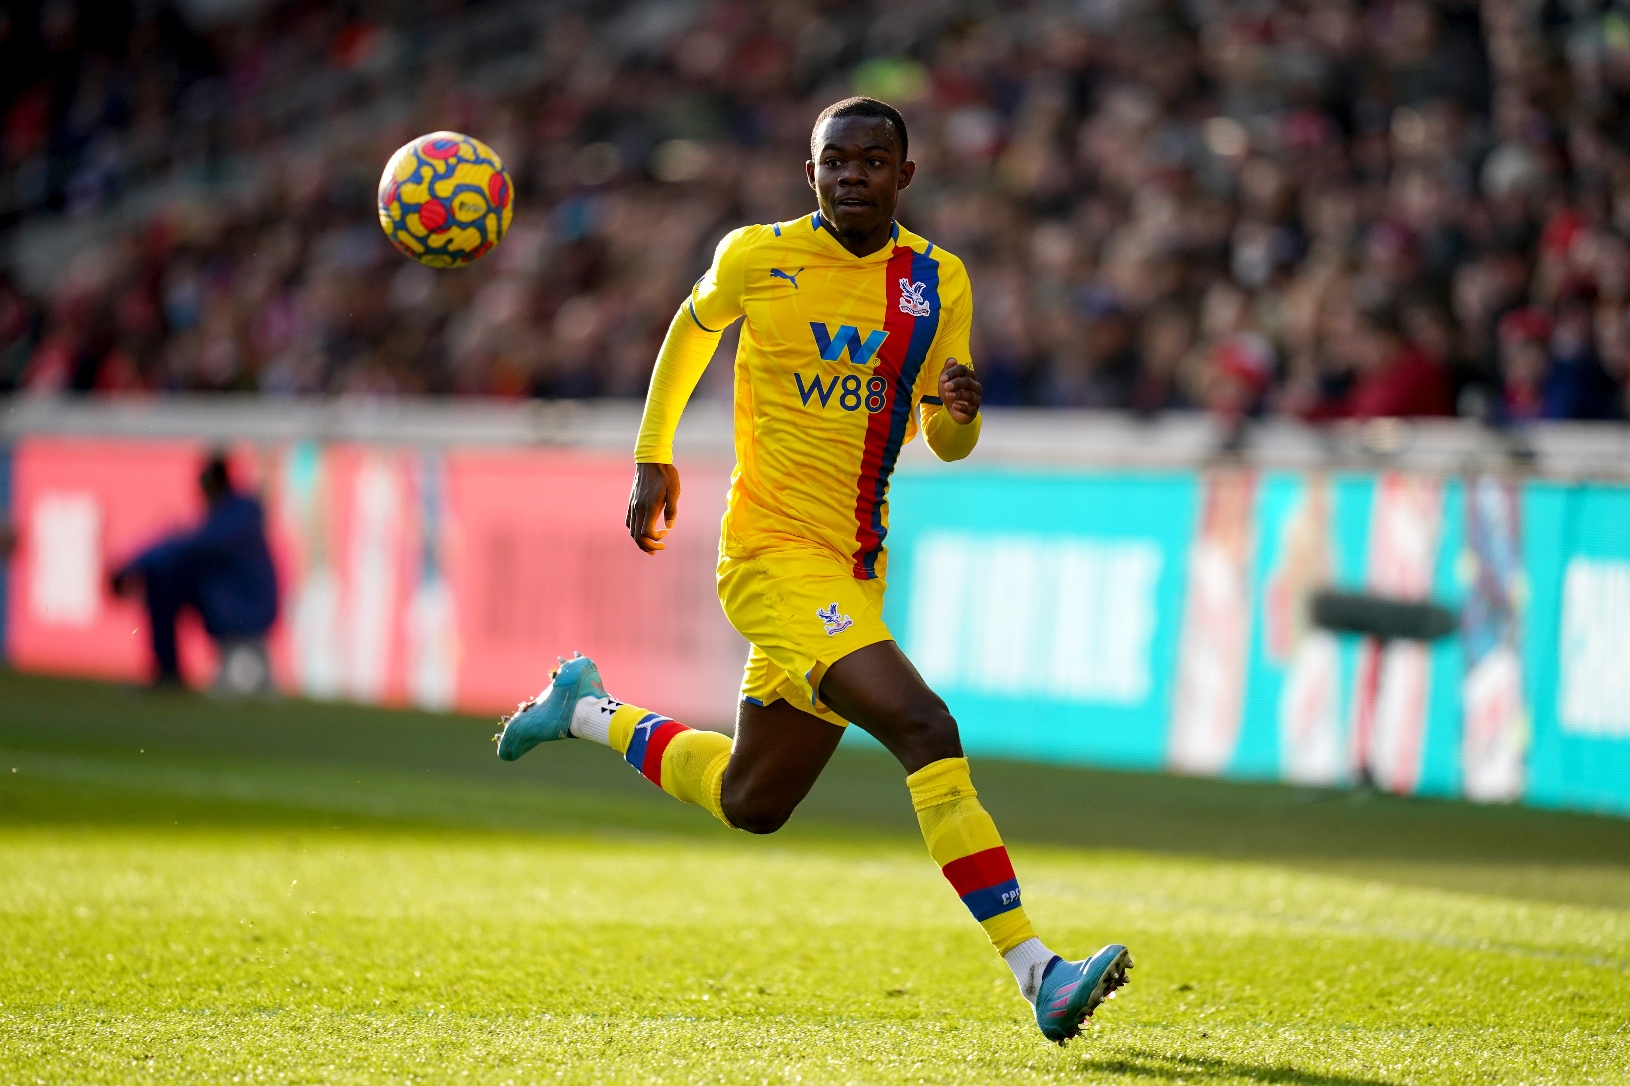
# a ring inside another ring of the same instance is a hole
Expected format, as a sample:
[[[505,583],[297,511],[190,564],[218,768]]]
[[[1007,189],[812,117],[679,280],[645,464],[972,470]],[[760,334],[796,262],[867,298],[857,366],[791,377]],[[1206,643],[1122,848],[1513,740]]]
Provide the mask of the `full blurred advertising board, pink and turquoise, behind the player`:
[[[13,666],[140,681],[108,571],[202,511],[194,441],[31,436],[10,453]],[[729,726],[745,645],[714,596],[722,462],[683,531],[623,529],[623,453],[292,441],[240,448],[282,615],[279,685],[497,713],[556,655],[619,697]],[[1368,785],[1630,814],[1630,487],[1490,474],[913,464],[885,619],[973,754]],[[1332,633],[1322,588],[1431,601],[1438,642]],[[181,632],[183,671],[214,650]]]

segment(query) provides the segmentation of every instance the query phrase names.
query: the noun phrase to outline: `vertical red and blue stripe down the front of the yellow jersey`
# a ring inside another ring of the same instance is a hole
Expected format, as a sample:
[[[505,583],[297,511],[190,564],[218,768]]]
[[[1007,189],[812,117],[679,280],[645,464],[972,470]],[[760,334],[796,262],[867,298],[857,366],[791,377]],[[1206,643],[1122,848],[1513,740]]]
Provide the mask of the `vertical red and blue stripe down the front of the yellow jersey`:
[[[927,252],[932,252],[932,246]],[[916,407],[913,389],[918,374],[923,371],[923,361],[939,332],[939,261],[927,252],[896,246],[885,269],[883,288],[888,301],[885,303],[883,327],[888,331],[888,339],[877,352],[879,361],[874,374],[888,381],[893,389],[893,402],[867,420],[861,472],[856,480],[854,575],[866,581],[877,576],[877,555],[888,534],[888,528],[883,526],[888,477],[900,461],[900,446],[905,444],[911,410]],[[929,306],[927,316],[911,316],[900,308],[901,280],[923,285],[919,296]]]

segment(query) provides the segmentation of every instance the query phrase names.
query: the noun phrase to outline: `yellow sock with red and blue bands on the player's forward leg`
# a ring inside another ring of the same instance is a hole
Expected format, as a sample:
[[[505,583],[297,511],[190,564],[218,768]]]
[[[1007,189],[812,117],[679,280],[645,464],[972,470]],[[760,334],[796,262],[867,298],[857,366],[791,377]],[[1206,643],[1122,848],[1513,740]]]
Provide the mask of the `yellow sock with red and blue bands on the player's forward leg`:
[[[996,822],[980,806],[968,759],[941,759],[906,777],[927,855],[950,881],[999,954],[1033,939],[1019,879]]]

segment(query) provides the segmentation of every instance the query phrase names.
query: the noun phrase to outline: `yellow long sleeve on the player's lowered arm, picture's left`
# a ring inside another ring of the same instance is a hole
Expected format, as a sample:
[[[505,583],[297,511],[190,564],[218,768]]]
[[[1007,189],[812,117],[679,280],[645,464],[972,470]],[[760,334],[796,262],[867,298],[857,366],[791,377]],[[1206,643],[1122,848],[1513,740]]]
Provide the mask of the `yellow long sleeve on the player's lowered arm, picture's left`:
[[[719,337],[742,316],[742,254],[748,233],[755,230],[760,228],[732,230],[724,236],[714,251],[712,267],[696,280],[691,296],[673,314],[657,353],[657,368],[650,373],[645,417],[634,444],[636,464],[673,462],[673,431],[685,404],[719,347]]]

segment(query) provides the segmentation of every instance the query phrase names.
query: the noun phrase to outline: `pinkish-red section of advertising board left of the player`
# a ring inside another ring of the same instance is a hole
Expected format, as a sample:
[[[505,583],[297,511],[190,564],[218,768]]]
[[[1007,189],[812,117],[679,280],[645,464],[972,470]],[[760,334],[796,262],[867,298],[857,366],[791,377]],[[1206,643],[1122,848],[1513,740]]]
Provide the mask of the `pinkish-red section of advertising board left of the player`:
[[[106,591],[114,565],[202,513],[202,446],[18,446],[8,655],[24,669],[140,679],[145,615]],[[623,528],[629,458],[360,444],[243,449],[267,510],[282,615],[279,684],[311,697],[499,712],[556,655],[595,658],[618,697],[703,725],[734,713],[745,645],[714,596],[727,472],[685,469],[681,529],[641,554]],[[183,664],[214,659],[196,622]]]

